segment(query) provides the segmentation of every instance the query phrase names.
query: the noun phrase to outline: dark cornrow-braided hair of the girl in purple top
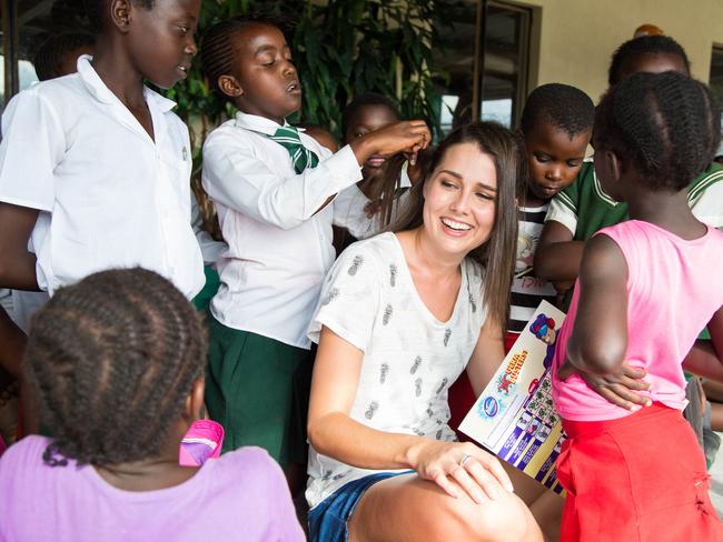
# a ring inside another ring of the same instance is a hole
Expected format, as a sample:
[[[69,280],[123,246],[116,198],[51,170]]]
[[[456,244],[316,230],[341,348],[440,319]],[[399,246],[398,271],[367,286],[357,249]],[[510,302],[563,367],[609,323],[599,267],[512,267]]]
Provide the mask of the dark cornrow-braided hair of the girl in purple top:
[[[59,290],[32,319],[24,358],[53,438],[44,461],[158,455],[205,362],[199,314],[152,271],[103,271]]]

